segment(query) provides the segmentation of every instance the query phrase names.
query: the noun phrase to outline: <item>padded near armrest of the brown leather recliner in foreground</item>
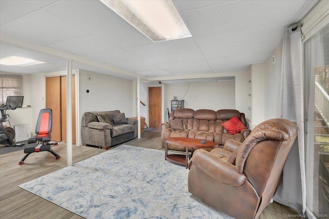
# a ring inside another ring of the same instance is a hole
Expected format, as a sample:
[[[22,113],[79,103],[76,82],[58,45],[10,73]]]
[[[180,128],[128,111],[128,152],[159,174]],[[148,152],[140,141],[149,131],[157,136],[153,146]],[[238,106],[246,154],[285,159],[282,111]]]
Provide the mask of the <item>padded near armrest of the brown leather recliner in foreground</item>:
[[[236,172],[234,165],[203,149],[193,153],[189,168],[192,169],[194,165],[226,185],[241,186],[247,181],[245,174]]]

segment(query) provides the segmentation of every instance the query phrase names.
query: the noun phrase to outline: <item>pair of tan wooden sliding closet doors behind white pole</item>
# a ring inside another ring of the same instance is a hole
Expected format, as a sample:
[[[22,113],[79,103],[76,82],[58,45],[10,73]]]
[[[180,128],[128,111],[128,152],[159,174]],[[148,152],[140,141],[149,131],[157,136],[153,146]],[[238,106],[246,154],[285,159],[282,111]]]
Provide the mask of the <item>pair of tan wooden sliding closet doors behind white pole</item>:
[[[76,144],[76,89],[72,75],[72,143]],[[52,109],[51,140],[66,142],[66,76],[46,77],[46,108]]]

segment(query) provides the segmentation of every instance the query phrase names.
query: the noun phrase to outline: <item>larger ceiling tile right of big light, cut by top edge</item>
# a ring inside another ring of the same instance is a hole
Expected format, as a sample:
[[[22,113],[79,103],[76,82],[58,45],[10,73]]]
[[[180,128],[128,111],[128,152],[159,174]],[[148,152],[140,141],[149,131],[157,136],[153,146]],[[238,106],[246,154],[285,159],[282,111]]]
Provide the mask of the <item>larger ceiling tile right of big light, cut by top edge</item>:
[[[307,1],[234,1],[183,12],[192,35],[291,21]],[[294,18],[295,19],[295,18]]]

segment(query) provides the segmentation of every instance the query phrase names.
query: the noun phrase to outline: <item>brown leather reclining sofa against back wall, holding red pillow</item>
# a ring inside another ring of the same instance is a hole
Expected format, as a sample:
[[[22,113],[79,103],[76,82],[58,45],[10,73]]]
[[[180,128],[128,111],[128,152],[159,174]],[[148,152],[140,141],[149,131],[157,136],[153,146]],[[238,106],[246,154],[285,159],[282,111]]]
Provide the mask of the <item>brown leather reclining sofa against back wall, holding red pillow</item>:
[[[250,129],[244,129],[241,133],[231,135],[221,125],[237,115],[246,126],[245,114],[233,109],[209,110],[209,109],[176,109],[170,113],[169,123],[162,123],[161,146],[165,148],[165,139],[168,137],[189,137],[200,140],[208,140],[218,143],[223,147],[225,142],[233,139],[243,142],[250,134]],[[185,151],[186,148],[177,145],[168,145],[171,150]]]

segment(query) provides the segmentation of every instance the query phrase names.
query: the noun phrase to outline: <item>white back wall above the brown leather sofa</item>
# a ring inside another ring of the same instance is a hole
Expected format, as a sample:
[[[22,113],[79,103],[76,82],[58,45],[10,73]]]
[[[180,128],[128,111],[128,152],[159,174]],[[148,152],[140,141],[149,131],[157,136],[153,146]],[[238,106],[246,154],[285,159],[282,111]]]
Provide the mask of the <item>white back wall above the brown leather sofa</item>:
[[[191,83],[189,89],[188,87],[188,83],[169,84],[167,86],[169,111],[171,111],[170,101],[174,96],[177,96],[178,99],[184,99],[185,108],[194,110],[212,109],[217,111],[219,109],[235,109],[234,81]]]

